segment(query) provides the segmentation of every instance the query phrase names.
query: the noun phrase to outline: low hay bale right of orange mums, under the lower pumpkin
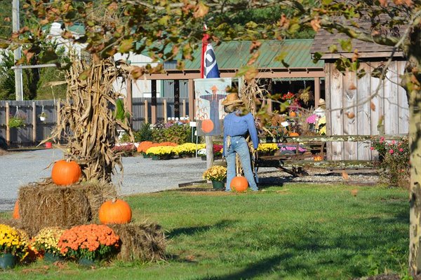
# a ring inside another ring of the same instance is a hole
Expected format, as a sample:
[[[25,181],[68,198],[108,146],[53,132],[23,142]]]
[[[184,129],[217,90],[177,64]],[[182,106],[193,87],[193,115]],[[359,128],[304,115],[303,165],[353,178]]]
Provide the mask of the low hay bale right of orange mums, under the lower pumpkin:
[[[163,260],[166,241],[161,226],[154,223],[109,225],[121,239],[121,249],[116,256],[123,261]]]

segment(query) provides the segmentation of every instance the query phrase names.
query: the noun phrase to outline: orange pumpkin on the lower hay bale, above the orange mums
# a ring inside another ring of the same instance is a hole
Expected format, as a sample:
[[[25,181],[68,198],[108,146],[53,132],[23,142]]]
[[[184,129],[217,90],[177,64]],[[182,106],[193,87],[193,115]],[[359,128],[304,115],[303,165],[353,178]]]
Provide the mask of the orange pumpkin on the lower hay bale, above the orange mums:
[[[102,203],[99,210],[100,222],[108,223],[130,223],[131,208],[124,200],[109,200]]]

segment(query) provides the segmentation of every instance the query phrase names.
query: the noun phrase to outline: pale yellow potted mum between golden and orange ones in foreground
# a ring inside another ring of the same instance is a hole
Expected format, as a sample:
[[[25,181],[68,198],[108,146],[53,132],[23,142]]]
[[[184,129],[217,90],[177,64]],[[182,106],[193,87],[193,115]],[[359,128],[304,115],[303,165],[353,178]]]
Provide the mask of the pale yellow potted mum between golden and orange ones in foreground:
[[[55,262],[62,258],[63,254],[58,247],[58,240],[62,236],[63,230],[59,227],[43,228],[38,232],[32,241],[32,248],[36,249],[41,255],[44,255],[44,260]]]

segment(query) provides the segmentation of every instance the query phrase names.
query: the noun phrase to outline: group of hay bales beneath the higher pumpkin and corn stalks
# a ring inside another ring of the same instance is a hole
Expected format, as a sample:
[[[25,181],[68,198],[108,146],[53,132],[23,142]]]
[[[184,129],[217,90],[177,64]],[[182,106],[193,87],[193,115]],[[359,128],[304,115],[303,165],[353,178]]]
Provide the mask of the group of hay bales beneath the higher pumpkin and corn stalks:
[[[90,223],[100,205],[116,197],[115,187],[107,183],[79,183],[57,186],[51,181],[30,183],[19,189],[22,227],[29,235],[51,226],[71,228]]]

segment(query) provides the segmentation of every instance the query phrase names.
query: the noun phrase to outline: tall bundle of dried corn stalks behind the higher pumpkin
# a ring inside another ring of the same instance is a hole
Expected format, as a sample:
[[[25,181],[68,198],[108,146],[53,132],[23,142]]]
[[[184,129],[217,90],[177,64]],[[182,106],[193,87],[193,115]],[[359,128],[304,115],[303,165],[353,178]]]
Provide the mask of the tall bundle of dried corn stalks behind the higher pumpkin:
[[[65,158],[76,160],[84,179],[111,181],[116,165],[121,165],[121,153],[112,151],[118,140],[117,126],[133,133],[127,119],[116,119],[112,107],[122,95],[113,88],[126,71],[110,59],[93,62],[74,61],[67,71],[67,98],[60,108],[60,123],[51,139],[64,135],[68,144]]]

